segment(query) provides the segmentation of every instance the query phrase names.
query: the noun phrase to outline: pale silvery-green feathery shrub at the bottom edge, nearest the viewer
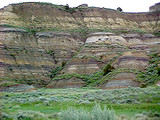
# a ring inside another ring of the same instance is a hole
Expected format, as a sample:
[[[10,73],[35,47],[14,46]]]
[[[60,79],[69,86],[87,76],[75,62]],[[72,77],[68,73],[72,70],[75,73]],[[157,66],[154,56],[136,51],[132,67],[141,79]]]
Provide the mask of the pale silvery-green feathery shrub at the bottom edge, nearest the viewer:
[[[99,104],[96,104],[90,112],[82,108],[62,110],[59,117],[61,120],[115,120],[115,113],[106,107],[102,109]]]

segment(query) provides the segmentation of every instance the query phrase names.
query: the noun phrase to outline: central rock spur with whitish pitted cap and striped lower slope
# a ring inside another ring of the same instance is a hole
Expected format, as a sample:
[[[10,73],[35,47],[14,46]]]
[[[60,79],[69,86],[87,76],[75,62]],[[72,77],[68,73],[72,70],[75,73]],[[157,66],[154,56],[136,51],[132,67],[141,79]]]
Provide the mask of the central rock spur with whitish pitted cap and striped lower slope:
[[[108,36],[109,35],[109,36]],[[124,46],[120,46],[122,43]],[[90,34],[85,46],[65,67],[66,73],[91,74],[126,51],[126,40],[111,33]]]

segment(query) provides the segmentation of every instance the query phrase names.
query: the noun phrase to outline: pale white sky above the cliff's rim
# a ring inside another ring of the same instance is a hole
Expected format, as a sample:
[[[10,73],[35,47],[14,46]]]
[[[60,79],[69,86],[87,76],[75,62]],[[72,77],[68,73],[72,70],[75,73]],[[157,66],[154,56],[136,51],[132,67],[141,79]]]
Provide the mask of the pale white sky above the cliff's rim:
[[[124,12],[148,12],[149,7],[160,2],[160,0],[1,0],[0,8],[3,8],[8,4],[22,2],[49,2],[58,5],[68,4],[70,7],[88,4],[89,6],[111,9],[121,7]]]

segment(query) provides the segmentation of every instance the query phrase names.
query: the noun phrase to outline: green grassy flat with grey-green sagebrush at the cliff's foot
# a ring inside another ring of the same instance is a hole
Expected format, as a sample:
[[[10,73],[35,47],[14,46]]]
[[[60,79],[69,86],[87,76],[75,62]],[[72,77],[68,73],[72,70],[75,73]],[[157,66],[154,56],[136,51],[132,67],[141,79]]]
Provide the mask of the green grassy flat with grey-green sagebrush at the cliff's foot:
[[[159,120],[159,100],[160,87],[129,87],[111,90],[97,88],[38,89],[21,93],[1,92],[0,119],[85,120],[88,117],[91,120],[100,120],[99,118],[106,118],[108,114],[108,116],[111,115],[110,118],[101,119]],[[74,115],[76,117],[73,117]]]

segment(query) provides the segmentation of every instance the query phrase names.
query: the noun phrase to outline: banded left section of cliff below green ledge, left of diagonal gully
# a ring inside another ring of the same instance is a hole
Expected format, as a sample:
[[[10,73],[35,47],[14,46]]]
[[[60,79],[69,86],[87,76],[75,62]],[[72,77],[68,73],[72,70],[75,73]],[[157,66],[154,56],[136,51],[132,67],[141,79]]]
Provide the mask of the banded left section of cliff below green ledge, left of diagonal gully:
[[[81,46],[76,36],[73,38],[62,32],[32,35],[21,29],[1,26],[0,36],[1,79],[36,86],[48,84],[50,71],[72,58]]]

